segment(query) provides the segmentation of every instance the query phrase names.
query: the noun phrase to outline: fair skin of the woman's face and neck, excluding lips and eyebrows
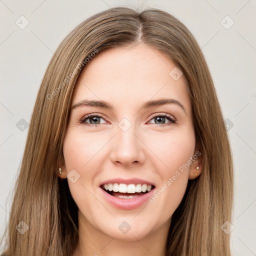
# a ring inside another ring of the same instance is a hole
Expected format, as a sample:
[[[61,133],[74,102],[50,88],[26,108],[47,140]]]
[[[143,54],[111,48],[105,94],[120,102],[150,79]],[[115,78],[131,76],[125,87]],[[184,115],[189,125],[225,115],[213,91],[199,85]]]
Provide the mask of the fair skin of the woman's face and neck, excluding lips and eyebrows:
[[[79,105],[70,112],[61,177],[73,169],[80,175],[74,183],[67,179],[78,206],[79,242],[73,256],[165,254],[171,215],[188,179],[200,174],[201,157],[153,202],[147,200],[133,209],[109,204],[99,184],[111,178],[136,177],[152,181],[157,191],[198,150],[185,80],[169,75],[174,67],[163,53],[138,43],[98,53],[80,73],[71,106],[83,99],[103,100],[113,109]],[[146,101],[162,98],[175,99],[184,109],[177,103],[141,108]],[[101,117],[79,121],[92,113]],[[175,123],[159,114],[170,116]],[[126,131],[118,126],[123,118],[131,124]],[[126,233],[118,228],[123,221],[130,226]]]

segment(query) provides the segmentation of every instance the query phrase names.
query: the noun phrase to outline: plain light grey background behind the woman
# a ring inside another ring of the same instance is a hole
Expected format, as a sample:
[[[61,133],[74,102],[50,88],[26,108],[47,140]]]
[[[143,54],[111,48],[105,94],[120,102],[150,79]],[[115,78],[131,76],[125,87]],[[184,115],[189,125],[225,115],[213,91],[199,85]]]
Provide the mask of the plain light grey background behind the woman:
[[[53,52],[69,31],[92,14],[139,5],[180,19],[204,53],[223,115],[233,124],[228,131],[235,176],[232,255],[256,255],[255,0],[0,0],[0,235],[9,218],[28,130],[24,126],[21,131],[16,123],[21,118],[30,122]],[[21,23],[21,15],[29,21],[24,29],[15,24]],[[231,19],[224,18],[227,15]],[[234,24],[226,29],[232,20]]]

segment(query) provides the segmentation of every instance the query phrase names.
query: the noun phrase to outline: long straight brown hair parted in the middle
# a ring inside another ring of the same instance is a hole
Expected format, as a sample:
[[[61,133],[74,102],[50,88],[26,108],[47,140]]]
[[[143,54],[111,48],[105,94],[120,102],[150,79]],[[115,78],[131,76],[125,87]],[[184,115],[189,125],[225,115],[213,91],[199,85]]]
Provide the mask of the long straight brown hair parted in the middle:
[[[75,27],[46,69],[5,230],[6,256],[68,256],[74,251],[78,240],[77,206],[66,179],[57,177],[57,172],[63,159],[62,142],[75,82],[92,52],[100,54],[108,48],[139,42],[165,53],[182,70],[190,93],[196,143],[203,156],[201,175],[188,181],[173,213],[166,255],[230,255],[229,234],[221,230],[221,225],[231,217],[231,150],[200,47],[178,19],[162,10],[147,8],[139,13],[115,7]],[[20,221],[28,226],[23,234],[15,228]]]

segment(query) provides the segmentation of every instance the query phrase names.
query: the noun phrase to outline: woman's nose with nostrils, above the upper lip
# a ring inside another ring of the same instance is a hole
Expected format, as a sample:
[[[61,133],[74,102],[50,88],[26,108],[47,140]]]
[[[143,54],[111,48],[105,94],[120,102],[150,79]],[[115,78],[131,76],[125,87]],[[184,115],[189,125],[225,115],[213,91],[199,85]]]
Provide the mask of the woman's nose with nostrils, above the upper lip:
[[[112,141],[111,161],[126,167],[142,164],[145,160],[145,145],[139,130],[135,129],[135,125],[131,125],[126,131],[117,126],[116,131]]]

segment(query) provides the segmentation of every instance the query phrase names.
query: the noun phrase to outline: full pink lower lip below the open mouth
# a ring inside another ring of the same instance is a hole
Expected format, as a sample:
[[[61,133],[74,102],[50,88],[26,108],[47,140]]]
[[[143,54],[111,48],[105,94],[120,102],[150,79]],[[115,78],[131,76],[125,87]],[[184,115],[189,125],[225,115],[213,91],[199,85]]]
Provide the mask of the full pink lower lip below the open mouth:
[[[99,187],[103,197],[107,200],[109,204],[112,206],[119,208],[119,209],[124,209],[124,210],[129,210],[129,209],[134,209],[142,205],[144,202],[149,201],[149,197],[153,194],[154,188],[151,189],[149,192],[139,195],[133,198],[119,198],[110,195],[107,193],[105,190],[103,190],[101,187]],[[131,193],[132,195],[132,193]]]

